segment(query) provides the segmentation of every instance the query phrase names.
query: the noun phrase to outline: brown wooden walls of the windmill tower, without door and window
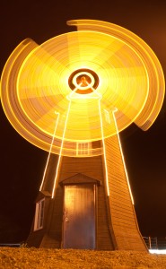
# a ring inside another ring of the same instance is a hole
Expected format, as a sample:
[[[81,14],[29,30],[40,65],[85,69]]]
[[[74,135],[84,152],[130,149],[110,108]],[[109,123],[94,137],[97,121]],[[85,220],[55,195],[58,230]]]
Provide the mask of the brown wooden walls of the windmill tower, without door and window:
[[[32,225],[27,240],[29,246],[63,247],[64,185],[91,183],[97,186],[95,248],[146,251],[135,217],[118,136],[106,139],[105,147],[109,196],[105,164],[103,155],[100,155],[87,158],[62,157],[55,197],[52,199],[50,190],[54,184],[57,156],[51,155],[48,175],[37,199],[39,201],[45,197],[44,225],[43,229],[36,231],[33,230],[34,224]]]

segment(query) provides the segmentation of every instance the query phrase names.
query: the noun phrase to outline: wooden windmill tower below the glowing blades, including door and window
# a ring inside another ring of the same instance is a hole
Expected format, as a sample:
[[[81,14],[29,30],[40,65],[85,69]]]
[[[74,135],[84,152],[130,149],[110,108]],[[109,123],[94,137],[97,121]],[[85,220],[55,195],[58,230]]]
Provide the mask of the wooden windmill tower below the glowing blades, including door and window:
[[[52,199],[55,167],[52,179],[48,167],[28,246],[147,251],[138,229],[118,137],[106,139],[105,147],[108,184],[103,156],[62,157]],[[54,158],[50,157],[51,166]]]

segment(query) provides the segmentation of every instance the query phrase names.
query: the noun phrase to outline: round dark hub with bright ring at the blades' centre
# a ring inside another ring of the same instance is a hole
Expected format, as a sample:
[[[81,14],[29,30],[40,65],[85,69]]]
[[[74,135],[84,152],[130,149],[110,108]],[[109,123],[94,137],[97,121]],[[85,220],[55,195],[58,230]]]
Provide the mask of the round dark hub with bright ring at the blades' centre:
[[[95,91],[99,85],[99,76],[90,69],[78,69],[68,79],[72,91],[79,94],[88,94]]]

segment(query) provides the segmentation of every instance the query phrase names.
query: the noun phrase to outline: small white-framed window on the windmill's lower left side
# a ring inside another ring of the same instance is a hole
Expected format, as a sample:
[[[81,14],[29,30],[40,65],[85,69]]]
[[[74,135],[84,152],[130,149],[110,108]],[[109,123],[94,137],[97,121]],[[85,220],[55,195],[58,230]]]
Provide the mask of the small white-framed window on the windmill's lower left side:
[[[43,221],[44,221],[44,199],[36,203],[34,230],[42,229]]]

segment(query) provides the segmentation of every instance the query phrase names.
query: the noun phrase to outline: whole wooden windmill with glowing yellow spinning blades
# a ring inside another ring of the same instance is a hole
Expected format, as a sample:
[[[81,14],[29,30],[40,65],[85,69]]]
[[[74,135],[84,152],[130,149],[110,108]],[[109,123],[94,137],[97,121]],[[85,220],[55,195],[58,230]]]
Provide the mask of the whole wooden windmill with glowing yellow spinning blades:
[[[109,22],[41,45],[25,39],[1,79],[4,112],[48,151],[29,246],[146,251],[119,132],[144,131],[162,108],[162,67],[134,33]]]

